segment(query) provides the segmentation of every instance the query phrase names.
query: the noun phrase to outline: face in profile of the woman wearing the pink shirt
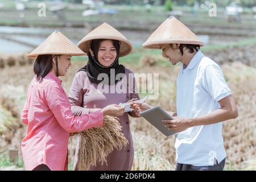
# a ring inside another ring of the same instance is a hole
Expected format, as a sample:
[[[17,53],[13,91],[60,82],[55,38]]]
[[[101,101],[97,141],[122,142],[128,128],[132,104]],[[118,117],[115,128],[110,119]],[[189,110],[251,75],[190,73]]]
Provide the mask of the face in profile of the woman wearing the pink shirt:
[[[68,68],[71,67],[70,55],[53,56],[53,63],[56,63],[56,57],[58,60],[59,76],[65,76],[68,72]],[[56,64],[53,64],[53,71],[56,73]]]

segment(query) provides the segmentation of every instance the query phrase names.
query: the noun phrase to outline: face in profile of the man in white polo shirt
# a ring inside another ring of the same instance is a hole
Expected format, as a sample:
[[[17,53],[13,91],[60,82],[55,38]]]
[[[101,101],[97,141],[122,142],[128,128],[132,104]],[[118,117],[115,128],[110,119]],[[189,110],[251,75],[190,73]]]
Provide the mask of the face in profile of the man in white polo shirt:
[[[162,49],[163,57],[167,58],[173,65],[181,61],[182,55],[179,49],[180,44],[162,44],[160,49]]]

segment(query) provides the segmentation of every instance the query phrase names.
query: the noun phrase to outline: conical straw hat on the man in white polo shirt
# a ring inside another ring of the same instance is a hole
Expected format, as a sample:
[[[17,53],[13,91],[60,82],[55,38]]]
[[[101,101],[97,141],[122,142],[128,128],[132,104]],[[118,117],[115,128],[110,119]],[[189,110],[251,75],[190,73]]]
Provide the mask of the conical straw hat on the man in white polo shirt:
[[[170,16],[160,24],[142,46],[143,48],[160,49],[161,44],[197,44],[204,46],[204,43],[174,16]]]

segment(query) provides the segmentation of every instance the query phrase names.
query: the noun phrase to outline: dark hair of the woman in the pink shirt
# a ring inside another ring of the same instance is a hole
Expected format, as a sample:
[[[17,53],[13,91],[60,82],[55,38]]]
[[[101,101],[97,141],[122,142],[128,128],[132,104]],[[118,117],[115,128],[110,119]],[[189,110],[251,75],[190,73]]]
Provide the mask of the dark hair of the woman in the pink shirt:
[[[56,61],[56,66],[57,66],[57,61]],[[34,73],[39,82],[42,82],[43,78],[51,71],[52,71],[52,55],[39,55],[38,57],[36,57],[35,64],[34,64]]]

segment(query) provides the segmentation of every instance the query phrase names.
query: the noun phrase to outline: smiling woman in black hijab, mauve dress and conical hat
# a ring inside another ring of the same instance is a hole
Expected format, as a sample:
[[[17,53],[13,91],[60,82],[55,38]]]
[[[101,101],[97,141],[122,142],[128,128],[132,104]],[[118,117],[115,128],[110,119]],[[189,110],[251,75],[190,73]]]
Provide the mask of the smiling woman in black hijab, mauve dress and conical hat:
[[[126,103],[139,99],[134,73],[119,64],[119,57],[131,52],[131,43],[120,32],[107,23],[89,32],[78,44],[88,55],[88,63],[76,73],[70,92],[69,101],[75,115],[96,111],[105,105]],[[133,106],[133,105],[132,105]],[[139,117],[138,107],[125,112],[119,118],[122,133],[129,143],[121,150],[116,148],[106,158],[107,163],[97,164],[90,170],[112,171],[130,170],[133,164],[134,148],[129,117]],[[80,137],[79,137],[80,138]],[[80,139],[79,139],[80,140]],[[74,160],[74,169],[79,166],[78,142]]]

